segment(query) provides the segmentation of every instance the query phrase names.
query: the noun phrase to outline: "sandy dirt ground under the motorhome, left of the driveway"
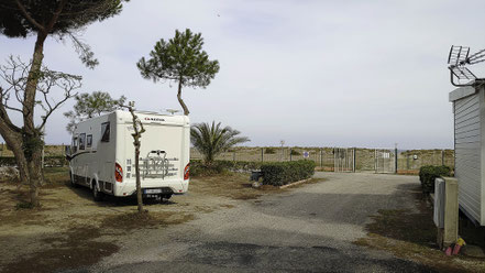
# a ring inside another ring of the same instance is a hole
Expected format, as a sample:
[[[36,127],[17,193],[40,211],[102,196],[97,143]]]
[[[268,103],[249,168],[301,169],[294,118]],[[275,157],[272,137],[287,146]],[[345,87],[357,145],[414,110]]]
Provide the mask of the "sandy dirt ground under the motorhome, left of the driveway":
[[[119,250],[133,229],[163,229],[199,214],[232,208],[243,200],[288,189],[251,187],[247,174],[192,178],[189,193],[169,201],[148,201],[140,216],[136,200],[109,197],[95,203],[88,188],[68,186],[66,168],[51,168],[41,208],[29,209],[27,187],[0,183],[0,272],[53,272],[93,264]]]

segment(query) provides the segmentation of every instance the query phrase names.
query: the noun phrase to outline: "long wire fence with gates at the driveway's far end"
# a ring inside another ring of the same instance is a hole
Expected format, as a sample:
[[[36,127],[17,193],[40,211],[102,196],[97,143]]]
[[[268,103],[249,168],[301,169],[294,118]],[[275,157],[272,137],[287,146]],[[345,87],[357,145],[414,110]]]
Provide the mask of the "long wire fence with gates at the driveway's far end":
[[[190,157],[201,160],[191,149]],[[417,174],[425,165],[447,165],[454,168],[453,150],[396,150],[362,148],[238,148],[216,160],[243,162],[315,161],[319,171],[374,172]]]

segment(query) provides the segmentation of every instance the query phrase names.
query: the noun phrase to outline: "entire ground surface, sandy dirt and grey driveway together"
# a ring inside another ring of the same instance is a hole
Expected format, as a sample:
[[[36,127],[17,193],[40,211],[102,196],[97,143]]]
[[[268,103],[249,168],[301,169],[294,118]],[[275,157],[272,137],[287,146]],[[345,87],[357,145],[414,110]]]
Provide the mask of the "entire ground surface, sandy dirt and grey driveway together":
[[[67,181],[42,190],[42,208],[21,209],[26,189],[0,183],[0,272],[485,269],[482,261],[445,258],[432,245],[432,233],[421,240],[406,232],[420,232],[425,220],[433,228],[429,209],[417,206],[416,176],[315,177],[284,190],[253,189],[244,174],[191,179],[187,195],[151,203],[143,216],[134,200],[95,203],[88,189],[66,186]]]

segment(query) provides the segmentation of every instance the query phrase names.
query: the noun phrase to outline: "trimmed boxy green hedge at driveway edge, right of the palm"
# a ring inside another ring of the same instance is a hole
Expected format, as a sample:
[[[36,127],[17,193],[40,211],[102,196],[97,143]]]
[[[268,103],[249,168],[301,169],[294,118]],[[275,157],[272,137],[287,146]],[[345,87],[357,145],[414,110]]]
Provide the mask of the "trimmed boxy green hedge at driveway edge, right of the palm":
[[[283,186],[291,182],[310,178],[315,174],[313,161],[264,163],[261,166],[263,184]]]

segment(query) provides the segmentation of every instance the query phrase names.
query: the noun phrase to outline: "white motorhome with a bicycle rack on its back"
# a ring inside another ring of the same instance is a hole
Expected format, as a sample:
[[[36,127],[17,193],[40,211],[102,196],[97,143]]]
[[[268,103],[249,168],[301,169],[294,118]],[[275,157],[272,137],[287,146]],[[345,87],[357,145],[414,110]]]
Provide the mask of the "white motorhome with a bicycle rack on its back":
[[[140,171],[145,197],[170,198],[189,184],[190,123],[187,116],[137,111],[146,130],[141,138]],[[132,116],[117,110],[79,122],[67,151],[73,186],[104,194],[136,194]],[[69,151],[70,150],[70,151]]]

